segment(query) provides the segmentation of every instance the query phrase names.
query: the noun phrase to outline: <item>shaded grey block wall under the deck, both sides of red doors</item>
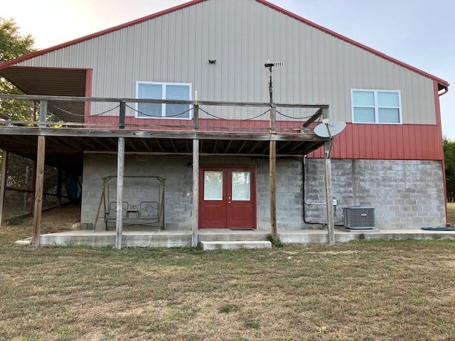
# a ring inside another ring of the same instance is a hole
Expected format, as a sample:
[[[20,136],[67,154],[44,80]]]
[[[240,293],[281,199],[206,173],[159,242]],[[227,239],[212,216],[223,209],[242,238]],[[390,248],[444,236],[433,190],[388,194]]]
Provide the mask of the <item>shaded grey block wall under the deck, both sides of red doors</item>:
[[[166,178],[166,229],[191,229],[193,210],[193,169],[187,156],[125,156],[125,175],[157,175]],[[270,229],[269,161],[268,159],[201,157],[201,164],[255,165],[257,172],[257,227]],[[86,154],[82,183],[82,223],[93,223],[102,193],[102,178],[117,174],[117,156]],[[109,187],[115,201],[116,180]],[[124,179],[124,201],[139,205],[156,195],[156,181]],[[301,161],[277,160],[277,221],[280,229],[300,229],[303,222],[301,206]],[[105,229],[102,207],[97,229]]]

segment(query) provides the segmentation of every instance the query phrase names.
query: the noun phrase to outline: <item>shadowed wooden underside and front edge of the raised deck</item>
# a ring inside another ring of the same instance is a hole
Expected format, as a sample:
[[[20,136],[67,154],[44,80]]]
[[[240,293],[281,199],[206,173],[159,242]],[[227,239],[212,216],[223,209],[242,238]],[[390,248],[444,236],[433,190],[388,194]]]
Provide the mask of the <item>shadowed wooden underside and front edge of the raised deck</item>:
[[[82,174],[84,153],[117,153],[118,138],[125,139],[125,152],[144,155],[191,155],[198,139],[201,156],[268,157],[270,141],[277,141],[277,156],[304,156],[328,139],[313,133],[245,134],[206,131],[132,131],[2,127],[0,148],[36,159],[38,136],[45,136],[45,163]]]

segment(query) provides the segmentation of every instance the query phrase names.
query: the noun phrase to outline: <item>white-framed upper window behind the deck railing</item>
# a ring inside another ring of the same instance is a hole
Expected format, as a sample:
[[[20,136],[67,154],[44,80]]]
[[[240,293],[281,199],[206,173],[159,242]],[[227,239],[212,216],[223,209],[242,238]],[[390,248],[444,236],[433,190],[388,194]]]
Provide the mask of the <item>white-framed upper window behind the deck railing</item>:
[[[191,100],[191,84],[165,82],[137,82],[136,97],[146,99]],[[188,104],[138,103],[136,117],[191,119]]]

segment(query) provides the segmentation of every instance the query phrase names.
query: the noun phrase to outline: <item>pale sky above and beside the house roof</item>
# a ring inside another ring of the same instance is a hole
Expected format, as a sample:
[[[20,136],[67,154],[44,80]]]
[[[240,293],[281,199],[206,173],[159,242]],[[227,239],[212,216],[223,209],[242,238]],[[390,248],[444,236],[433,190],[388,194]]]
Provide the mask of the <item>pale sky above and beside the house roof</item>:
[[[1,0],[35,47],[75,38],[171,8],[182,0]],[[331,31],[447,80],[440,97],[443,134],[455,140],[455,0],[269,0]]]

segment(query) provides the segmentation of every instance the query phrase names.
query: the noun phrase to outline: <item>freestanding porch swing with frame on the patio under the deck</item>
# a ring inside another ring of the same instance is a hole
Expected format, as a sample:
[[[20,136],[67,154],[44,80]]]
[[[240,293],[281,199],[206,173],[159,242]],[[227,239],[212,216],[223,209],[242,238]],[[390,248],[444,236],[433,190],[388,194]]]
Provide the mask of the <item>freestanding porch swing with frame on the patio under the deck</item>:
[[[97,220],[100,217],[101,207],[104,208],[103,221],[106,229],[112,229],[117,223],[117,188],[111,183],[117,175],[109,175],[102,179],[102,193],[97,215],[93,224],[96,229]],[[129,195],[124,195],[127,200],[122,202],[122,222],[124,226],[150,226],[158,227],[158,231],[164,229],[164,189],[165,178],[151,175],[124,175],[124,183],[135,188],[130,190]],[[128,184],[128,180],[132,183]],[[114,188],[112,188],[112,186]]]

